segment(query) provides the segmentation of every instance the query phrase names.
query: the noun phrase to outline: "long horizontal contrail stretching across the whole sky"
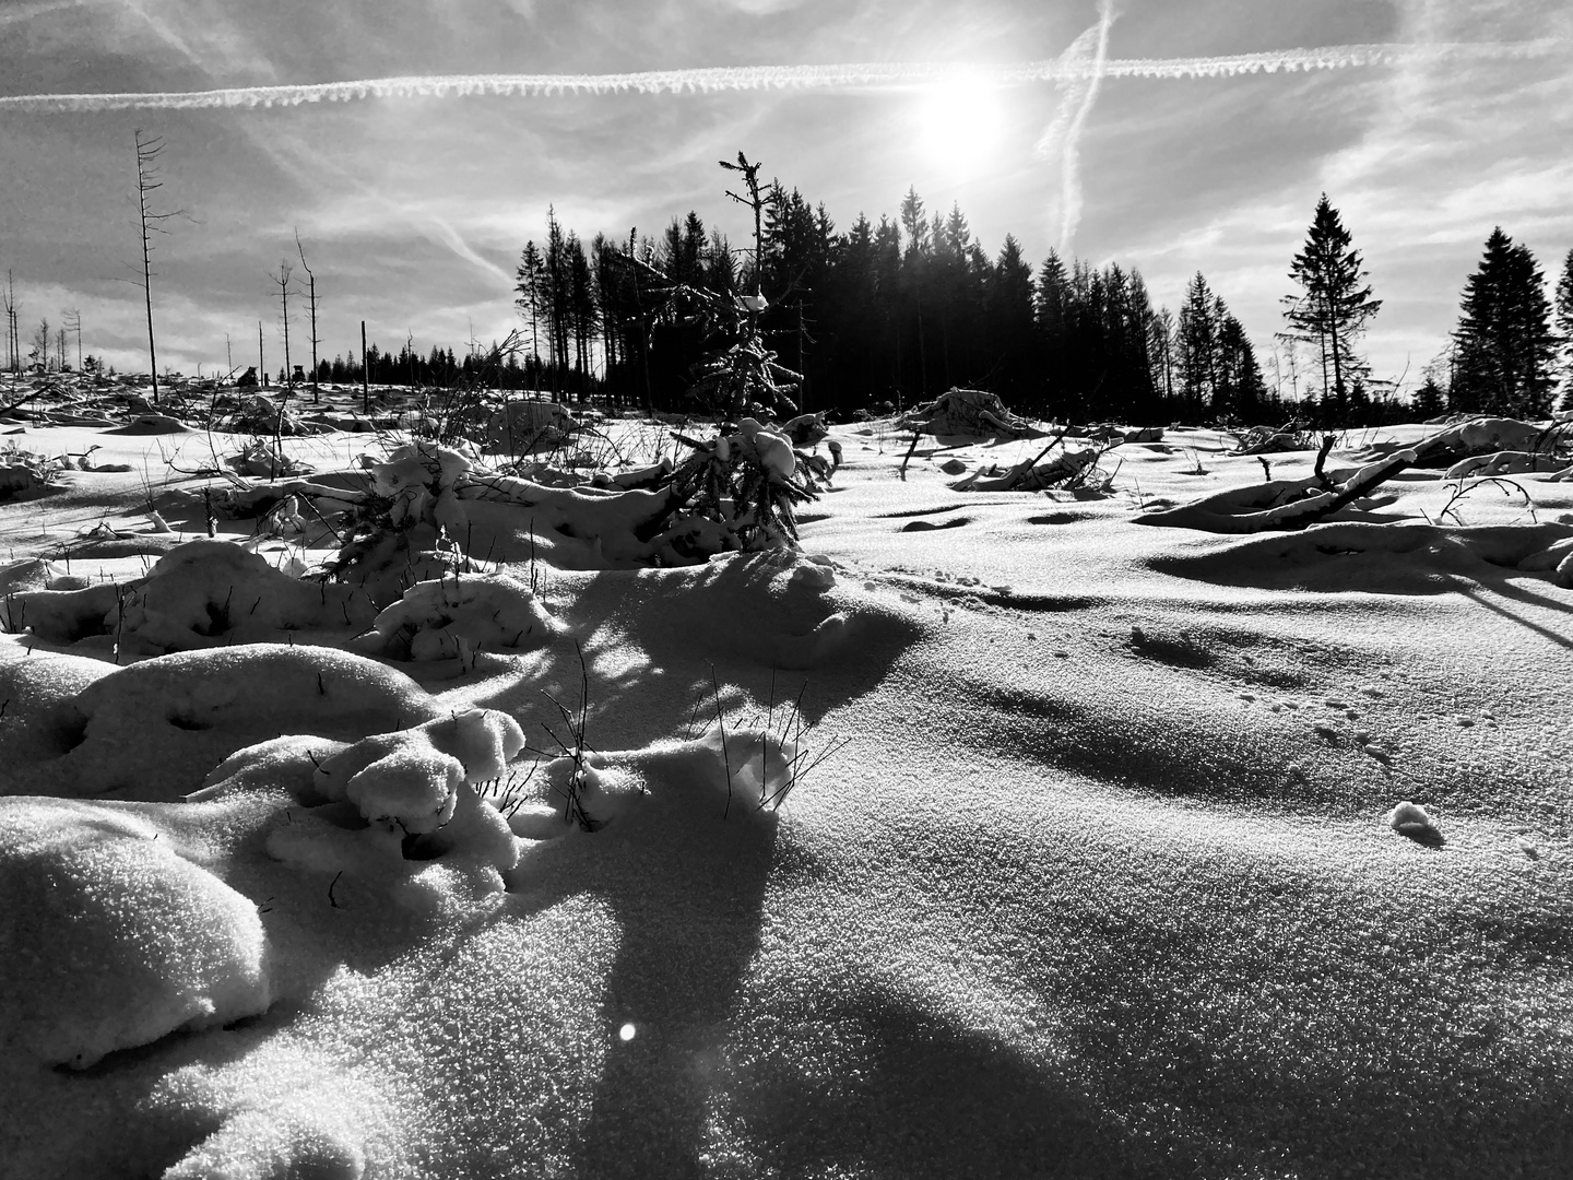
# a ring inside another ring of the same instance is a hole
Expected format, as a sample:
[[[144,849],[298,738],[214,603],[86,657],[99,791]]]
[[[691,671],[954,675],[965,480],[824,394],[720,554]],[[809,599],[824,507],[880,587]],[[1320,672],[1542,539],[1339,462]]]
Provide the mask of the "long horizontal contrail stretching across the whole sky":
[[[1100,25],[1101,27],[1101,25]],[[1556,38],[1442,44],[1326,46],[1269,53],[1191,58],[1111,58],[1008,65],[939,61],[862,63],[845,66],[709,66],[637,74],[433,74],[362,79],[313,85],[233,87],[167,93],[11,94],[0,112],[222,110],[231,107],[299,107],[307,102],[354,102],[401,98],[543,98],[549,94],[713,94],[739,90],[904,90],[966,79],[974,85],[1022,87],[1041,82],[1096,79],[1213,79],[1313,69],[1356,69],[1444,61],[1518,61],[1567,52]]]

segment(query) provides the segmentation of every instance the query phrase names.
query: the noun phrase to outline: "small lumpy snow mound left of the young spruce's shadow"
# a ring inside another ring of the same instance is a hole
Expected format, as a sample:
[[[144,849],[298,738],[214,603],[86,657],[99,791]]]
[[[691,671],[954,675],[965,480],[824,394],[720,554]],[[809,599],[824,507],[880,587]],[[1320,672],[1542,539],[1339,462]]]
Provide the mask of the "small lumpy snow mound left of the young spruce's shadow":
[[[551,640],[551,615],[508,574],[456,574],[417,582],[354,640],[368,656],[473,659],[480,648],[514,651]]]

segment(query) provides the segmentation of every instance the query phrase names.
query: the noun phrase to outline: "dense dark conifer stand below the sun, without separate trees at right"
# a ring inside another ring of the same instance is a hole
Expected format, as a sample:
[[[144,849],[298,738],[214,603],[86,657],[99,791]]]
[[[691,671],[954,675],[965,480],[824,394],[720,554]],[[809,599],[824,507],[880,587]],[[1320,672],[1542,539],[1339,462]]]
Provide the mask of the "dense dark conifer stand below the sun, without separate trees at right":
[[[1041,417],[1262,420],[1293,414],[1266,387],[1240,321],[1203,275],[1178,313],[1156,308],[1142,275],[1051,255],[1033,267],[1013,236],[989,256],[952,206],[928,216],[909,190],[897,219],[838,231],[824,205],[779,183],[758,252],[708,231],[698,212],[659,239],[588,245],[547,217],[524,249],[516,305],[532,359],[558,392],[684,409],[705,340],[673,283],[772,301],[768,340],[802,374],[804,409],[911,404],[952,385],[989,389]],[[593,374],[591,357],[602,365]]]

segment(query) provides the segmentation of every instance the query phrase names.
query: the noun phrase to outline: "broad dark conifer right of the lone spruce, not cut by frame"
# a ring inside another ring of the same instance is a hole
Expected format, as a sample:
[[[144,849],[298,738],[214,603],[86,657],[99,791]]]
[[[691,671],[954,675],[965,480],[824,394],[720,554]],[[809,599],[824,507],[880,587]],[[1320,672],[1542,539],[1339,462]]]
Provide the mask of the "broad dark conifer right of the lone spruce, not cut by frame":
[[[1545,275],[1529,247],[1515,245],[1501,227],[1464,286],[1453,340],[1452,409],[1545,417],[1556,356]]]

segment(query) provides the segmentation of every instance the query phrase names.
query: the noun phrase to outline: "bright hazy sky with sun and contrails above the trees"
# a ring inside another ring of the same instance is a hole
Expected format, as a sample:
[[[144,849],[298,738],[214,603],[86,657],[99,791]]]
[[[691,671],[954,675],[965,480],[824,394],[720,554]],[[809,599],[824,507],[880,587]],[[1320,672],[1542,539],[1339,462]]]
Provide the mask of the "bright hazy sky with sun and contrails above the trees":
[[[503,337],[547,206],[585,241],[697,209],[742,244],[739,149],[840,228],[915,187],[991,255],[1118,261],[1169,307],[1202,271],[1285,390],[1323,192],[1383,301],[1364,352],[1405,389],[1493,227],[1553,282],[1573,250],[1565,0],[0,0],[0,278],[24,337],[77,308],[121,370],[146,370],[138,129],[154,209],[184,212],[153,297],[186,373],[255,363],[258,324],[277,371],[297,234],[324,357],[362,319],[395,349]]]

